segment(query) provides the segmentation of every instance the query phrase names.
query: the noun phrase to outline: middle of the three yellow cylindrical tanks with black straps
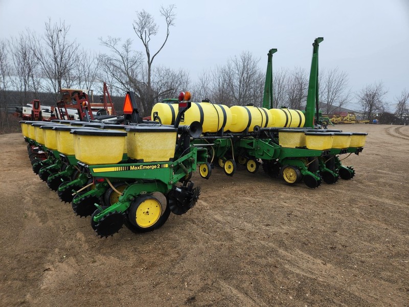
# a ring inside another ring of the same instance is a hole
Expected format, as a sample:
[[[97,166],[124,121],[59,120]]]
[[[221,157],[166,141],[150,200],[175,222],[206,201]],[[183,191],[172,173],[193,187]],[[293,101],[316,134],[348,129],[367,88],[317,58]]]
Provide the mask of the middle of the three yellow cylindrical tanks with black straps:
[[[234,133],[242,132],[248,128],[249,132],[254,130],[254,127],[270,127],[271,115],[267,108],[256,106],[241,106],[233,105],[230,107],[232,112],[232,124],[230,131]]]

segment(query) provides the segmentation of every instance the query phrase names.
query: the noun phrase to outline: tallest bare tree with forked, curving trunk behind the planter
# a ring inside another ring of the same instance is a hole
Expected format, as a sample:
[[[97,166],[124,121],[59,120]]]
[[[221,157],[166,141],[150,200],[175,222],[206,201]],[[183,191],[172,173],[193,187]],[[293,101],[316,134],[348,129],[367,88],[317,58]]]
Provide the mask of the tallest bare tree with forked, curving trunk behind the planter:
[[[146,95],[147,97],[145,100],[147,102],[150,102],[151,104],[153,103],[155,96],[160,96],[163,95],[164,93],[153,93],[152,89],[152,63],[156,55],[161,52],[163,47],[165,46],[170,31],[169,28],[170,26],[174,26],[174,21],[175,21],[175,13],[173,10],[175,9],[175,5],[169,5],[167,8],[161,7],[160,13],[161,16],[165,18],[166,21],[166,36],[165,39],[162,43],[162,46],[155,52],[153,55],[151,54],[150,51],[150,40],[152,39],[153,36],[155,36],[158,33],[159,27],[156,25],[154,18],[152,15],[145,10],[142,10],[140,12],[137,12],[137,19],[134,20],[133,22],[133,30],[137,34],[138,38],[142,41],[144,47],[145,47],[145,53],[146,53],[146,60],[147,60],[147,79],[146,79]]]

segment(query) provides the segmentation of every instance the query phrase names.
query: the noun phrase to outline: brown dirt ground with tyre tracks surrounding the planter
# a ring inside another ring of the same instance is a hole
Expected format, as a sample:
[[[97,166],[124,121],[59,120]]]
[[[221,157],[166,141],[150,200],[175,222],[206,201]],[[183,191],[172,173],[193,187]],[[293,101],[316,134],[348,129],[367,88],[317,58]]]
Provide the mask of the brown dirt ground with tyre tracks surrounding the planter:
[[[409,126],[336,128],[369,133],[350,181],[196,172],[192,210],[107,239],[0,136],[0,306],[409,306]]]

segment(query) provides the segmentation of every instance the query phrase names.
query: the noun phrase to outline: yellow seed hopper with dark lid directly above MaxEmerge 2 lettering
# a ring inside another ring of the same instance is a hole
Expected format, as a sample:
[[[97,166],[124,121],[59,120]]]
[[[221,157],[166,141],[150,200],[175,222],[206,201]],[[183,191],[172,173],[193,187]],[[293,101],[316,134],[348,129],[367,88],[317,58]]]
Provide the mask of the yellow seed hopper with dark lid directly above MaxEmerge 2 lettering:
[[[169,161],[175,155],[177,128],[129,126],[126,146],[128,157],[143,162]]]

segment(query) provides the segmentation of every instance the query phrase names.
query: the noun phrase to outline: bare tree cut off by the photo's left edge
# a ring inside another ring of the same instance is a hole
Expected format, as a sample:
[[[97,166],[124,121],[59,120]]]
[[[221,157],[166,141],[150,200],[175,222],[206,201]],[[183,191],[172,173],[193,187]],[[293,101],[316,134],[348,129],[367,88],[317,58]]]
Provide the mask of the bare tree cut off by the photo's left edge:
[[[7,43],[0,40],[0,132],[8,130],[8,97],[10,90],[11,64],[7,51]]]

